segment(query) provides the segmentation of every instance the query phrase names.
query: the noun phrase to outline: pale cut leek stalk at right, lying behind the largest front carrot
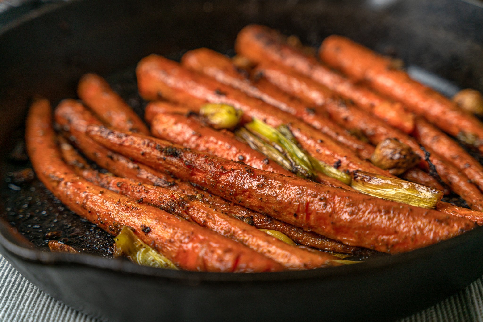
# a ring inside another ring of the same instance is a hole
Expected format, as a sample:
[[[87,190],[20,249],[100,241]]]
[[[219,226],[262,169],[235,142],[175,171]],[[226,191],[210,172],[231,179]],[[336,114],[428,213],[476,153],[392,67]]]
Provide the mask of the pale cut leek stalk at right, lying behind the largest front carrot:
[[[408,205],[435,209],[443,193],[424,185],[377,174],[355,171],[351,186],[362,193]]]

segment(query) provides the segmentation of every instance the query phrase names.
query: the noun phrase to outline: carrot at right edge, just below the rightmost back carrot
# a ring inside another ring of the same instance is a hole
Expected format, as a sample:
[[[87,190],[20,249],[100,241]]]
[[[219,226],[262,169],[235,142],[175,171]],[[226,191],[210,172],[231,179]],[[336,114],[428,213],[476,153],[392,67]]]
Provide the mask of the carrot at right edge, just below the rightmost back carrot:
[[[422,145],[438,151],[440,156],[458,168],[483,191],[483,166],[458,143],[421,117],[416,119],[412,135]]]

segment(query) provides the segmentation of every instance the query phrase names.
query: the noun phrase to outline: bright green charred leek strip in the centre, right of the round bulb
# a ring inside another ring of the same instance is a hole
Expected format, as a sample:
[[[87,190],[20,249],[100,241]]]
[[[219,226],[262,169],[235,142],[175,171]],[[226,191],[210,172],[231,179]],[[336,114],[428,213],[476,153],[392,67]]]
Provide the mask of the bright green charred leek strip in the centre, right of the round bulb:
[[[294,167],[301,172],[306,178],[313,178],[313,168],[309,158],[300,148],[292,141],[287,140],[282,133],[265,122],[254,118],[252,122],[245,125],[252,133],[258,135],[262,139],[269,141],[275,146],[280,146],[289,159],[294,162]]]

